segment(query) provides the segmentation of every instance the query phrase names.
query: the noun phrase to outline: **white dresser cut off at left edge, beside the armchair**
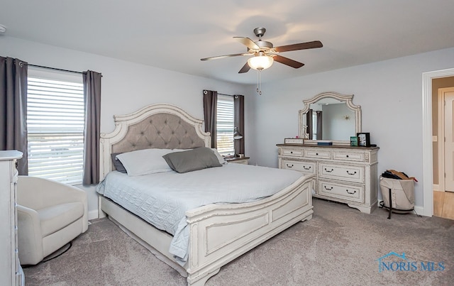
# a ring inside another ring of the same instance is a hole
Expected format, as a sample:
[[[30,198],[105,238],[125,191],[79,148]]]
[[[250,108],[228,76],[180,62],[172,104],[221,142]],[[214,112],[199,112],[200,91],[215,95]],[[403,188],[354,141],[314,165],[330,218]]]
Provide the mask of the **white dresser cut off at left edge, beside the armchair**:
[[[16,160],[22,153],[0,150],[0,285],[23,285],[25,278],[18,256]]]

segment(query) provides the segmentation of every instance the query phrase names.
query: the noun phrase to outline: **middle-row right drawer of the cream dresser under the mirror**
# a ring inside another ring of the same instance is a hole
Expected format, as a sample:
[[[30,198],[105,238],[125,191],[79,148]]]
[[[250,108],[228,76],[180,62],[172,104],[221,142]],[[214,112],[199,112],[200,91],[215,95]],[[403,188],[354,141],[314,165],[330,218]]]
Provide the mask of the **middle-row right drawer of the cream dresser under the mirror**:
[[[319,176],[335,180],[363,183],[364,167],[320,163]]]

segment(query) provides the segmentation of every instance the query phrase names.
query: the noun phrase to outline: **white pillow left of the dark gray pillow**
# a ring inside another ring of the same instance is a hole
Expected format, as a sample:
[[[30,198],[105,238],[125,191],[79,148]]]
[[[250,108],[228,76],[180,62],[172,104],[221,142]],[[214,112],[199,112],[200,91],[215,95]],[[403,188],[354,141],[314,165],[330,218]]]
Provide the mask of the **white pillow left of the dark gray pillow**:
[[[121,153],[116,158],[123,164],[128,176],[139,176],[172,171],[162,156],[176,151],[177,149],[143,149]]]

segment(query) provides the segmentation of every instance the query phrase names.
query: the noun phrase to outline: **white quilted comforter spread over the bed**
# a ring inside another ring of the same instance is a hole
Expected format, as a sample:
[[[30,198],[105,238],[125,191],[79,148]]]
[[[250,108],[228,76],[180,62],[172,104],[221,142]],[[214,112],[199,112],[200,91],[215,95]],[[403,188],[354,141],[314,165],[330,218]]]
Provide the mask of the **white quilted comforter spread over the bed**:
[[[128,177],[114,171],[96,190],[171,233],[169,251],[184,264],[189,243],[187,210],[213,203],[253,202],[279,192],[299,177],[297,171],[230,163],[183,174],[171,171]]]

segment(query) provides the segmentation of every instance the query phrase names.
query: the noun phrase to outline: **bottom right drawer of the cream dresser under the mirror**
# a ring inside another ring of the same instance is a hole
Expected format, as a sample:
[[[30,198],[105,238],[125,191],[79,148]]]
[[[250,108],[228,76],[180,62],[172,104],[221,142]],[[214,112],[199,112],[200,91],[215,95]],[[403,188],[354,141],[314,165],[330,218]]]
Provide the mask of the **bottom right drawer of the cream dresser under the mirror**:
[[[319,194],[350,202],[364,202],[364,187],[319,180]]]

